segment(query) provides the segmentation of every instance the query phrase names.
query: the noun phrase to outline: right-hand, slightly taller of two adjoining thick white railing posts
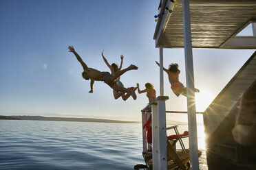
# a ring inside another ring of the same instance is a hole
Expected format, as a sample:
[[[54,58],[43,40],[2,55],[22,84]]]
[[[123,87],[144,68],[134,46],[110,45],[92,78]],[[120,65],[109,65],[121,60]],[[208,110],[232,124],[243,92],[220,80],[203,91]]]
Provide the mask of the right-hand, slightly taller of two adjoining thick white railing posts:
[[[158,97],[158,152],[159,170],[167,170],[167,125],[165,99]]]

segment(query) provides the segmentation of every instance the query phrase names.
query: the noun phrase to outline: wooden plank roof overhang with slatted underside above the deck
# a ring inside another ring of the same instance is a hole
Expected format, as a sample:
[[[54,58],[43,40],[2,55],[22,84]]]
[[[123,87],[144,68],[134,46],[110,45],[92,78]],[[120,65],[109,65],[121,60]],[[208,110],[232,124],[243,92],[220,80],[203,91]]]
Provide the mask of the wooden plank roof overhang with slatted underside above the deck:
[[[182,0],[175,6],[162,0],[153,39],[156,47],[184,48]],[[192,47],[200,49],[256,49],[256,36],[235,36],[256,23],[256,0],[190,0]],[[173,10],[169,13],[165,8]]]

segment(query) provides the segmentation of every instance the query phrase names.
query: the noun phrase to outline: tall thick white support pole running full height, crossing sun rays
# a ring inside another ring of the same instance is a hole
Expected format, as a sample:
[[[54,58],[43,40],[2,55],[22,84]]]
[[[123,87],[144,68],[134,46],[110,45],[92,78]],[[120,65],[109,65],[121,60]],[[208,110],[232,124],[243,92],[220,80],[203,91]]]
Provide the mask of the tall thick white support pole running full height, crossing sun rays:
[[[195,113],[195,87],[193,73],[193,53],[191,40],[191,25],[189,0],[182,0],[183,32],[184,32],[184,53],[186,64],[186,94],[189,121],[189,156],[192,169],[199,169],[198,161],[198,134]]]

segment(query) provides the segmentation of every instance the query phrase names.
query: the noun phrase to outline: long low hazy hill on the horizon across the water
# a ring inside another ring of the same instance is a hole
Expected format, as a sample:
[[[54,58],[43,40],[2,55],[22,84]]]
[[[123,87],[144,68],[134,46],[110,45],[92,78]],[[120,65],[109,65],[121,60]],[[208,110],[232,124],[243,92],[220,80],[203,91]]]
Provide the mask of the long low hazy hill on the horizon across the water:
[[[72,118],[72,117],[41,117],[41,116],[12,116],[21,120],[33,121],[81,121],[81,122],[102,122],[102,123],[139,123],[138,121],[116,121],[110,119],[93,118]]]

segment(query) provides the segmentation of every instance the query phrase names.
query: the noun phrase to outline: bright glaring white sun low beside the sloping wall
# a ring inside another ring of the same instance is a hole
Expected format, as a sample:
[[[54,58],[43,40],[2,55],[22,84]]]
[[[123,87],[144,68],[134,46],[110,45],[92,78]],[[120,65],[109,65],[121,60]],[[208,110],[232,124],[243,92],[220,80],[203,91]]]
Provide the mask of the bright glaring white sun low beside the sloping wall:
[[[195,108],[198,112],[204,112],[214,99],[211,90],[200,88],[200,93],[195,93]]]

